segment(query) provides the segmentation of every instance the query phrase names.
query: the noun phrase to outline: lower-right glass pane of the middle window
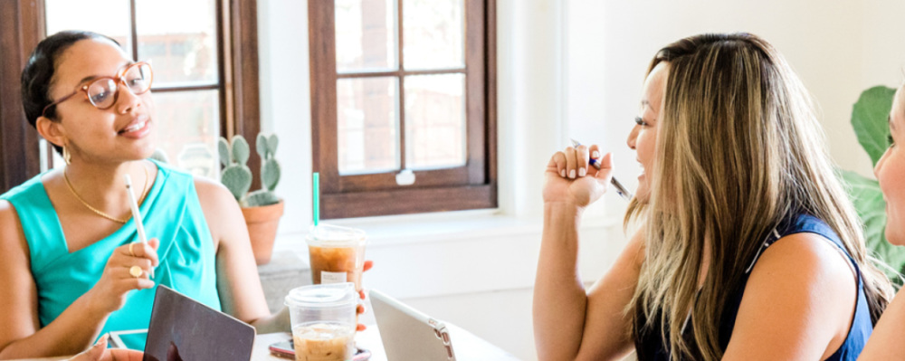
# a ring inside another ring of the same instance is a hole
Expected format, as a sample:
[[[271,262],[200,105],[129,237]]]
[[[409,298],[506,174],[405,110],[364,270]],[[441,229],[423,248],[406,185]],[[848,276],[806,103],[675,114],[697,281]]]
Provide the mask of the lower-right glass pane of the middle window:
[[[405,77],[405,167],[465,165],[465,74]]]

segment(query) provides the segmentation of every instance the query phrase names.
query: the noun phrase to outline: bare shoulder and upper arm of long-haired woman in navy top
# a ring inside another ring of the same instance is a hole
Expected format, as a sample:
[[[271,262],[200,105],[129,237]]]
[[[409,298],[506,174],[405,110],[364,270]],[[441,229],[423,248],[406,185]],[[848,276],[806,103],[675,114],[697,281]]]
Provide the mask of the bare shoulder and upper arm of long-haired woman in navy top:
[[[805,344],[821,355],[829,343],[843,342],[858,299],[858,281],[847,262],[815,233],[788,234],[767,247],[745,284],[727,355],[748,355],[767,345],[777,355],[797,354],[802,350],[789,345]]]

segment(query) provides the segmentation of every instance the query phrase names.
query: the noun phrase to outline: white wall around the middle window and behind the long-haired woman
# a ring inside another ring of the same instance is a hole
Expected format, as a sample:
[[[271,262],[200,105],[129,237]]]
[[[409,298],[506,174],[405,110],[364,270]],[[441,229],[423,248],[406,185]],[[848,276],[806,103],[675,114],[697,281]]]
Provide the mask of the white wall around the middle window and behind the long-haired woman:
[[[259,0],[262,128],[281,134],[287,200],[277,252],[302,244],[310,224],[307,2]],[[666,43],[703,32],[757,33],[786,55],[824,114],[831,154],[869,175],[849,124],[858,94],[895,86],[905,65],[905,2],[898,0],[498,0],[500,210],[347,220],[370,235],[385,290],[525,359],[536,358],[530,287],[539,248],[540,172],[576,137],[614,152],[633,188],[638,168],[624,138],[643,74]],[[624,203],[607,195],[586,217],[582,269],[599,277],[624,243]],[[485,312],[474,312],[481,302]],[[511,329],[511,332],[507,332]]]

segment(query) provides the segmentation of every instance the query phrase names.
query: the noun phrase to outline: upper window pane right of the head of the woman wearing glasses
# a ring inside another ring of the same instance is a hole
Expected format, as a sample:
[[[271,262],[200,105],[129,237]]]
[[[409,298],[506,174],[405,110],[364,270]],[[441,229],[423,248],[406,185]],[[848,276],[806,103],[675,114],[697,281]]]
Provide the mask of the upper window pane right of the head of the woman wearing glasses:
[[[217,81],[215,5],[214,0],[136,2],[138,60],[151,61],[156,88]]]

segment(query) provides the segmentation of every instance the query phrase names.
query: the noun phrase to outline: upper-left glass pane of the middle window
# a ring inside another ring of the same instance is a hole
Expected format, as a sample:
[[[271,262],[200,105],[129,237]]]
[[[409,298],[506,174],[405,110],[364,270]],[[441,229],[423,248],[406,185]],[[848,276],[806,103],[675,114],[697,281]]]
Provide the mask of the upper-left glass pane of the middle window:
[[[337,71],[393,71],[395,0],[336,1]]]

